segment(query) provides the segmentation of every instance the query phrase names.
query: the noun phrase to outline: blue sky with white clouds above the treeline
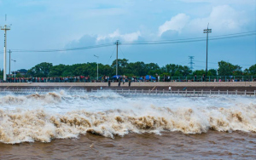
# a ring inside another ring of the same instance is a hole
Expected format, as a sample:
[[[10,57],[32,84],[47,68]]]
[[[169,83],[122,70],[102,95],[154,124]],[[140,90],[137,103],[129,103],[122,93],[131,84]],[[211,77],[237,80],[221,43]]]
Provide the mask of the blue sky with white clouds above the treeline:
[[[11,59],[16,60],[15,65],[11,62],[11,71],[30,69],[41,62],[53,65],[96,62],[94,54],[99,56],[99,63],[111,65],[116,58],[116,40],[121,43],[119,59],[153,62],[159,66],[189,66],[189,56],[194,56],[194,69],[205,69],[207,34],[203,30],[207,29],[208,23],[212,29],[209,38],[256,31],[256,1],[0,0],[0,26],[11,24],[11,30],[7,32],[7,49],[14,50]],[[3,49],[3,36],[1,31],[0,49]],[[125,42],[195,37],[205,37],[205,41],[125,45]],[[209,40],[208,69],[217,69],[220,60],[240,65],[242,70],[256,64],[255,39],[254,34]],[[106,43],[113,45],[61,52],[15,52],[15,49],[73,49]],[[0,68],[3,68],[2,50]]]

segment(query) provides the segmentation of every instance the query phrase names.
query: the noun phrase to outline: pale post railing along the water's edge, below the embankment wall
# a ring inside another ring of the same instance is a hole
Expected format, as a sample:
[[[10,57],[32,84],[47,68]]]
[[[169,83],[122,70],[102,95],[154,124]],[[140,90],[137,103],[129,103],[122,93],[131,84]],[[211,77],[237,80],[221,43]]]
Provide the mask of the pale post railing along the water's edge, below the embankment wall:
[[[0,94],[45,94],[49,92],[60,92],[61,89],[0,89]],[[253,92],[247,92],[245,91],[212,91],[212,90],[107,90],[107,89],[91,89],[90,91],[87,91],[86,89],[70,89],[65,90],[67,93],[70,94],[82,94],[82,93],[116,93],[124,96],[187,96],[187,97],[203,97],[203,96],[212,96],[212,95],[233,95],[233,96],[250,96],[256,98],[256,90]]]

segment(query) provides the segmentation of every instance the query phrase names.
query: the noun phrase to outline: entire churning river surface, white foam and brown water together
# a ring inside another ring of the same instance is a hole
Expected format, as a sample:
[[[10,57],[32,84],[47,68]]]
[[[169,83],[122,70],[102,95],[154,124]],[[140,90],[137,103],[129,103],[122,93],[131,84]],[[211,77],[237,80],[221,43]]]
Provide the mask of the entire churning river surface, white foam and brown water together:
[[[2,158],[256,158],[256,100],[0,95]]]

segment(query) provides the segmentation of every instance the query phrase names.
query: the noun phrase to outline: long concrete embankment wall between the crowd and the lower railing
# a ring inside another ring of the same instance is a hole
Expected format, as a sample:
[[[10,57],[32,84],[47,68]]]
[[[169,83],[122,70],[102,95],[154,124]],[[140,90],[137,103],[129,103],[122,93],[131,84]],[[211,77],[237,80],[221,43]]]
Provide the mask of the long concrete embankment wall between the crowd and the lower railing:
[[[254,91],[256,90],[256,82],[170,82],[170,83],[0,83],[0,89],[124,89],[124,90],[220,90],[220,91]]]

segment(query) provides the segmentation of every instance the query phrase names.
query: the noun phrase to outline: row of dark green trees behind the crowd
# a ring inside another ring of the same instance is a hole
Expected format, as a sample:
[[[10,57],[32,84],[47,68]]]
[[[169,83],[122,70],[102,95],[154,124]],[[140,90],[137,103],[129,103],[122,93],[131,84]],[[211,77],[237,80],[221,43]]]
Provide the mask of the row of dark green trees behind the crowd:
[[[157,63],[145,64],[143,61],[128,62],[126,59],[119,60],[119,75],[125,75],[128,77],[136,76],[141,77],[145,75],[171,76],[171,77],[185,77],[185,76],[202,76],[206,74],[205,70],[192,71],[188,66],[180,66],[175,64],[168,64],[160,67]],[[113,61],[112,65],[99,64],[99,77],[104,75],[115,75],[116,62]],[[96,77],[97,64],[96,62],[74,64],[74,65],[57,65],[53,66],[52,63],[43,62],[36,66],[33,66],[27,71],[26,77],[74,77],[74,76],[90,76]],[[3,78],[3,71],[0,72]],[[250,66],[244,71],[241,70],[241,66],[233,65],[226,61],[218,62],[218,70],[210,69],[206,76],[245,76],[256,75],[256,64]],[[0,77],[1,77],[0,76]],[[21,75],[17,74],[17,77]]]

